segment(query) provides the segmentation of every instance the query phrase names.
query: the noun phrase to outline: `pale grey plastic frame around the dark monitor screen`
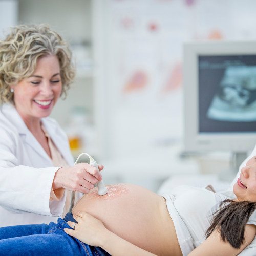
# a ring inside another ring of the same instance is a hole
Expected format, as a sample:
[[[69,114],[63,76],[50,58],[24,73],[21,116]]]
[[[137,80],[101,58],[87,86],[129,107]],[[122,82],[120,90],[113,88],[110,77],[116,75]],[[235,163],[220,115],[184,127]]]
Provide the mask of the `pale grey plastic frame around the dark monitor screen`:
[[[186,42],[183,46],[184,150],[245,152],[256,144],[255,132],[199,133],[198,56],[256,55],[256,41]]]

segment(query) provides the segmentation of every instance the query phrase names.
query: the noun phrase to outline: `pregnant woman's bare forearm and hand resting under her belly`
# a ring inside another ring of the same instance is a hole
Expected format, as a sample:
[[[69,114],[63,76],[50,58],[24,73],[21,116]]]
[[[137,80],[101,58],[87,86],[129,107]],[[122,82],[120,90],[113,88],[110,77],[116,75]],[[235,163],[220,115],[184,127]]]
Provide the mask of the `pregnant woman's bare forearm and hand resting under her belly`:
[[[91,246],[99,246],[112,256],[153,256],[105,228],[103,223],[86,212],[78,211],[73,216],[78,222],[75,230],[65,228],[65,232]],[[72,226],[74,223],[69,221]]]

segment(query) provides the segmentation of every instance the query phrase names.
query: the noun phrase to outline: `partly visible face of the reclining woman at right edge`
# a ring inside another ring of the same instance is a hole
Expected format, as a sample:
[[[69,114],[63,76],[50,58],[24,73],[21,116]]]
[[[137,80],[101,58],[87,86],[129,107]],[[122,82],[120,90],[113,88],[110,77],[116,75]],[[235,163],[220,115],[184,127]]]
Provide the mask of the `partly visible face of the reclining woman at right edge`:
[[[239,201],[256,202],[256,156],[252,157],[242,168],[240,178],[233,186]]]

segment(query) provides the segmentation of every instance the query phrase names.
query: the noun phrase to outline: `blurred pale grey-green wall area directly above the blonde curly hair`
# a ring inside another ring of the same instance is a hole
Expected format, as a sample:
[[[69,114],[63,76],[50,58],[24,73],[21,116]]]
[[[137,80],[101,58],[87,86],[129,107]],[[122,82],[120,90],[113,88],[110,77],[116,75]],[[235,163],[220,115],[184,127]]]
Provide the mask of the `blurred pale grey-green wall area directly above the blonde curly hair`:
[[[19,23],[48,23],[73,42],[91,41],[90,0],[19,0]]]

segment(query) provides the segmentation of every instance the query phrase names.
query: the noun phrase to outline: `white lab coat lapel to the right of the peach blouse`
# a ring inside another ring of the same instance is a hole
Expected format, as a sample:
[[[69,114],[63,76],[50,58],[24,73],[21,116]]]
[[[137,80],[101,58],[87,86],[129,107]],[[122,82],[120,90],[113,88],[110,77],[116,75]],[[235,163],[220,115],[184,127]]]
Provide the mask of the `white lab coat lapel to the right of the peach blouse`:
[[[51,140],[55,144],[55,146],[58,148],[58,151],[62,155],[62,157],[67,161],[69,166],[74,165],[74,158],[71,154],[71,151],[69,150],[69,145],[67,140],[63,140],[63,135],[60,134],[60,129],[58,129],[57,124],[55,124],[51,119],[48,118],[42,118],[41,119],[42,124],[44,124],[44,127],[46,131],[49,133]]]

